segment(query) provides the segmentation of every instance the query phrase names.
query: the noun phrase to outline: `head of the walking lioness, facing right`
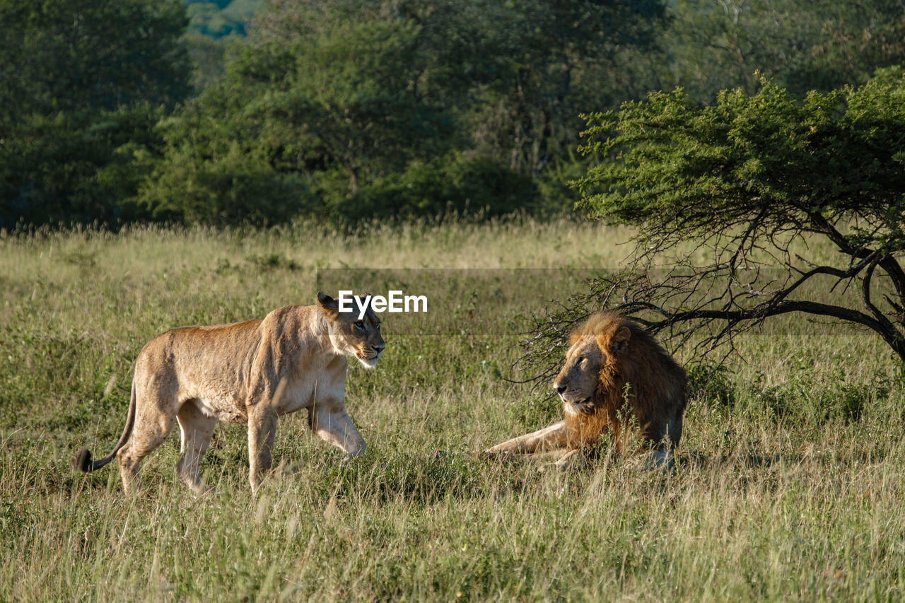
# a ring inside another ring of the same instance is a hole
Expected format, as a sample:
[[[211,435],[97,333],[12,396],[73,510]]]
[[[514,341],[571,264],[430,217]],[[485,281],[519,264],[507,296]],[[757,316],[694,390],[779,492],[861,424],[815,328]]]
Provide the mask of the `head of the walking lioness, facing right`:
[[[357,302],[352,303],[352,311],[339,311],[337,300],[318,292],[318,306],[329,324],[333,349],[338,354],[355,356],[367,369],[376,367],[386,343],[380,335],[380,321],[370,304],[367,304],[364,316],[358,318]]]

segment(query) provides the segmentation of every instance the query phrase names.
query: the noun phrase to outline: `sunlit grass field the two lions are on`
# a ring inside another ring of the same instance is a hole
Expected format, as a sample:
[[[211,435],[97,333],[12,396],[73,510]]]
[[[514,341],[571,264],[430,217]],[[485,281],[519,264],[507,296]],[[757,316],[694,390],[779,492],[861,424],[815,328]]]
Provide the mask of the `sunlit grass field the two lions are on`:
[[[582,269],[619,267],[627,236],[518,219],[0,238],[0,600],[905,599],[905,380],[869,334],[741,340],[693,380],[674,474],[476,455],[557,416],[501,378],[519,325]],[[348,371],[366,455],[341,464],[294,415],[254,498],[243,426],[217,427],[210,495],[177,482],[176,435],[142,495],[115,464],[71,470],[76,448],[116,442],[157,332],[311,303],[325,269],[356,267],[496,288],[441,280],[426,318],[395,335],[384,318],[380,367]]]

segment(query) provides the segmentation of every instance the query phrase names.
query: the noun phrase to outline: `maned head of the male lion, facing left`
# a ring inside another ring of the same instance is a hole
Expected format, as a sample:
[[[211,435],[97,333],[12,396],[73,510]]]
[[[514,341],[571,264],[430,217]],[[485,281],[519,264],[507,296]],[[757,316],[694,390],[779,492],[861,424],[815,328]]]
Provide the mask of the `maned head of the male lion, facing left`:
[[[566,364],[553,381],[569,413],[594,410],[595,393],[611,383],[628,349],[632,330],[627,320],[614,312],[600,312],[569,335]]]

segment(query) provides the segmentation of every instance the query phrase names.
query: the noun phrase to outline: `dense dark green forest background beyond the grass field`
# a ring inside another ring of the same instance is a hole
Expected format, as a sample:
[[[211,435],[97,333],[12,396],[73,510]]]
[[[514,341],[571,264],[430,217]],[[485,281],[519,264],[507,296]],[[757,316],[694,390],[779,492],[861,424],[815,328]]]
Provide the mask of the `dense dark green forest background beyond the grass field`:
[[[555,213],[583,113],[903,58],[889,0],[0,0],[0,228]]]

